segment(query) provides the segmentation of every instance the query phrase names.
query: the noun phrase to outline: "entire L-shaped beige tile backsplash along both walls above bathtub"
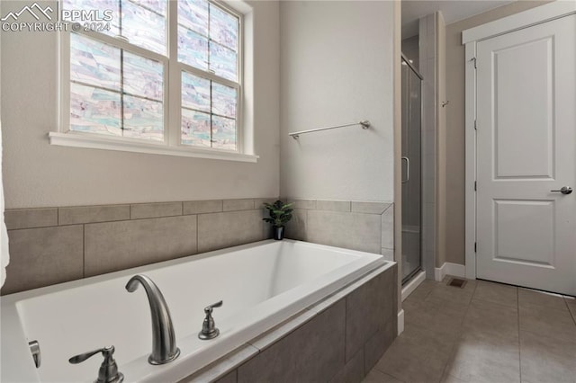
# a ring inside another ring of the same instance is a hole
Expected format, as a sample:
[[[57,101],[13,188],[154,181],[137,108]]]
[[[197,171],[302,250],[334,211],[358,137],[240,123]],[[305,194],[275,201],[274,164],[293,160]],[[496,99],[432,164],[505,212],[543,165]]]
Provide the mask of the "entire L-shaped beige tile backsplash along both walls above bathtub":
[[[4,212],[11,294],[272,237],[264,202],[193,200]],[[286,237],[393,257],[393,204],[291,200]]]

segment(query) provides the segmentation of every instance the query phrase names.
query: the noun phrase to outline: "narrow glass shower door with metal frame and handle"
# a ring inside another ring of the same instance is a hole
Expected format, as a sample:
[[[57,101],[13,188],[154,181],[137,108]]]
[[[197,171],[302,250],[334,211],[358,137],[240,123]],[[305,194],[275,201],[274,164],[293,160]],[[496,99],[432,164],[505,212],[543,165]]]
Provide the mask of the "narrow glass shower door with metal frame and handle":
[[[421,270],[421,81],[402,55],[402,283]]]

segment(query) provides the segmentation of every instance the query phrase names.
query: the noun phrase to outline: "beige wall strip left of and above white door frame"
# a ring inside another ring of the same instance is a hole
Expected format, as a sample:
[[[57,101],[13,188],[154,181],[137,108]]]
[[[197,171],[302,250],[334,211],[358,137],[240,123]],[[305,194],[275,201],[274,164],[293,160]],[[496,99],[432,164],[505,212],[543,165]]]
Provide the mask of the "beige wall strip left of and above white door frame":
[[[446,256],[464,264],[464,45],[462,31],[548,1],[516,1],[446,26]]]

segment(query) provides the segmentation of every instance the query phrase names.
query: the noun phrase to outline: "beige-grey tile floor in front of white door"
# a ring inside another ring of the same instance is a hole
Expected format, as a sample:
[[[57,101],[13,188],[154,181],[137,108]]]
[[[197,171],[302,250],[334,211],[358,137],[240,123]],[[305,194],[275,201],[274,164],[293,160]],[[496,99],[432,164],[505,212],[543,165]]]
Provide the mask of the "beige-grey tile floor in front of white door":
[[[576,300],[487,281],[424,281],[365,383],[576,383]]]

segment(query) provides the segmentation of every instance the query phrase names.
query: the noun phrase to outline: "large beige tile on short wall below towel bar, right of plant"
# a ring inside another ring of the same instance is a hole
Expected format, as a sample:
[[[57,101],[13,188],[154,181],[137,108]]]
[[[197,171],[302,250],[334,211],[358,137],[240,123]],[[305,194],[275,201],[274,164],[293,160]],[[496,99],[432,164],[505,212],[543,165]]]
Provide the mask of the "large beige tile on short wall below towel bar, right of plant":
[[[380,254],[381,218],[373,214],[308,211],[307,240]]]

